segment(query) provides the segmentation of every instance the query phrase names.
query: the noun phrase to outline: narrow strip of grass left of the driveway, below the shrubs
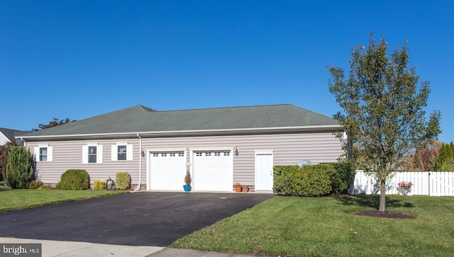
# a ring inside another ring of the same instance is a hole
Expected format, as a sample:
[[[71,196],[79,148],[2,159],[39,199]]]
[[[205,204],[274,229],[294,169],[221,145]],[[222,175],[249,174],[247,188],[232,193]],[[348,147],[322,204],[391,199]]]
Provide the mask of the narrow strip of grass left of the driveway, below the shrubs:
[[[0,188],[0,212],[51,205],[60,202],[118,195],[126,191],[109,190],[35,190]]]

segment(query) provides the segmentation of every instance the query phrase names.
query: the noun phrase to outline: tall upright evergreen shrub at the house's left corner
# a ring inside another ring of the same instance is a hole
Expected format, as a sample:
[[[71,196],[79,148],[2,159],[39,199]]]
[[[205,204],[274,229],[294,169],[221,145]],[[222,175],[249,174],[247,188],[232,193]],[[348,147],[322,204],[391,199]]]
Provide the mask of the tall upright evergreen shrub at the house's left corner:
[[[28,188],[33,179],[35,174],[30,151],[24,147],[11,147],[6,164],[6,183],[11,188]]]

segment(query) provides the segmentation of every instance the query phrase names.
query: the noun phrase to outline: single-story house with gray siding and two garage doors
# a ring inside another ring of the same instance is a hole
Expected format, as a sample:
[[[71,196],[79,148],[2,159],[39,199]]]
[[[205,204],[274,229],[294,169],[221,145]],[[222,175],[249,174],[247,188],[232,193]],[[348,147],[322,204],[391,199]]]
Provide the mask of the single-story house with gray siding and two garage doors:
[[[295,105],[157,111],[136,105],[18,137],[35,154],[38,178],[57,183],[84,169],[91,183],[128,171],[146,190],[272,190],[272,166],[335,162],[336,120]]]

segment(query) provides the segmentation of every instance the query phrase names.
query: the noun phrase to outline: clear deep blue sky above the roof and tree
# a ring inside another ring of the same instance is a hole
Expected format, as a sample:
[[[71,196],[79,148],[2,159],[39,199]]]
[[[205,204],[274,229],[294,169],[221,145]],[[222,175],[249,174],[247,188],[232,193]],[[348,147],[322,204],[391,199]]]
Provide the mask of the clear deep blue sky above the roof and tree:
[[[0,127],[31,130],[133,105],[292,103],[332,116],[326,66],[408,41],[426,111],[454,140],[453,1],[0,0]]]

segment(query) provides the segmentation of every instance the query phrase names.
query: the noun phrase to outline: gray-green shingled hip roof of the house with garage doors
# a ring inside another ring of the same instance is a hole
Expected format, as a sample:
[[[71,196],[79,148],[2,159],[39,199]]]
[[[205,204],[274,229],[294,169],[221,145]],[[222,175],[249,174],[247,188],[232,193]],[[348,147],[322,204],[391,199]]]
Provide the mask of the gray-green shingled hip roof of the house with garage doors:
[[[291,104],[157,111],[142,105],[70,122],[23,135],[81,137],[88,135],[162,135],[195,132],[289,128],[339,128],[333,118]]]

